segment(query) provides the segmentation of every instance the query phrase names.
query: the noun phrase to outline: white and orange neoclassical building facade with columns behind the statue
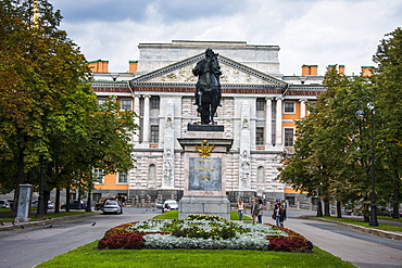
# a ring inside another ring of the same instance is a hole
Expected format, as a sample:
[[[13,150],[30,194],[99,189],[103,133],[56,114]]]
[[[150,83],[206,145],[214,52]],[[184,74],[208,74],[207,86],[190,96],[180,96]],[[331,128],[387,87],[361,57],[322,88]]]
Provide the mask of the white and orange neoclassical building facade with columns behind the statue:
[[[218,53],[223,73],[215,120],[233,139],[223,178],[229,200],[265,195],[292,202],[297,193],[276,180],[278,167],[293,150],[296,122],[307,115],[306,103],[325,90],[323,77],[315,65],[303,65],[301,76],[280,74],[278,46],[214,41],[140,43],[127,73],[109,73],[106,61],[89,62],[99,103],[116,95],[122,109],[137,113],[141,127],[133,136],[136,168],[102,178],[95,199],[181,197],[186,174],[177,139],[189,124],[200,123],[191,71],[208,48]]]

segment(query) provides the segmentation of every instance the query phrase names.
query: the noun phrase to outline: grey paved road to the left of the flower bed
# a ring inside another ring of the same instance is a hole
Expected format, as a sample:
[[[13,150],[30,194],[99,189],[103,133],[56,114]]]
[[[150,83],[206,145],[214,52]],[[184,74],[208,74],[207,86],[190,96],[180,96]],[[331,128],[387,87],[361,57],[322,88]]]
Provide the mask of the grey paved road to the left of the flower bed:
[[[93,215],[49,226],[0,232],[0,268],[30,268],[80,245],[101,239],[125,222],[149,219],[160,212],[125,208],[123,215]],[[96,222],[95,226],[92,224]]]

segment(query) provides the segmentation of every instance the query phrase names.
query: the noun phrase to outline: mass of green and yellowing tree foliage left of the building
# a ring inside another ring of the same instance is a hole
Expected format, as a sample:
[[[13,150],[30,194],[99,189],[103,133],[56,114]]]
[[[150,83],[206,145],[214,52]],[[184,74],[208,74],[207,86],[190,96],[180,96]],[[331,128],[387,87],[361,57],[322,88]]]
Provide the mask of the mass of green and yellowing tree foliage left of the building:
[[[99,110],[85,56],[59,28],[60,11],[47,0],[3,0],[0,18],[2,188],[29,182],[50,191],[90,178],[97,165],[108,171],[128,168],[135,114],[114,104]],[[110,124],[99,125],[104,117]]]

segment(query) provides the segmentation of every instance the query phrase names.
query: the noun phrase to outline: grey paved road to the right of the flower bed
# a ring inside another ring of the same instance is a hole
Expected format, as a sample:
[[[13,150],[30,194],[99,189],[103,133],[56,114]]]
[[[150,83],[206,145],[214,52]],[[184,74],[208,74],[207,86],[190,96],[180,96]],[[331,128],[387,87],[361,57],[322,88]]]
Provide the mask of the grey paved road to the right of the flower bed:
[[[402,241],[368,235],[335,224],[297,218],[314,213],[288,209],[288,215],[286,228],[299,232],[314,245],[357,267],[402,267]],[[274,222],[268,217],[264,217],[264,220]]]

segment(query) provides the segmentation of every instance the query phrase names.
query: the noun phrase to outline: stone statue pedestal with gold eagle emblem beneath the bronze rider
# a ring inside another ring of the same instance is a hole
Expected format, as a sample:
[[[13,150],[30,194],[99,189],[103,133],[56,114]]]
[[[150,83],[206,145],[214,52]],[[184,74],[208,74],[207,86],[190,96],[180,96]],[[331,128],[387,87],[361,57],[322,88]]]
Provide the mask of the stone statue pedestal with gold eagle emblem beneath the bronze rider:
[[[196,131],[189,128],[186,137],[178,139],[185,150],[185,184],[184,196],[178,204],[179,219],[190,214],[202,214],[230,220],[225,178],[226,155],[233,139],[223,138],[223,126],[199,125]]]

